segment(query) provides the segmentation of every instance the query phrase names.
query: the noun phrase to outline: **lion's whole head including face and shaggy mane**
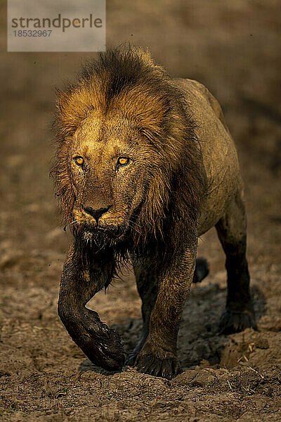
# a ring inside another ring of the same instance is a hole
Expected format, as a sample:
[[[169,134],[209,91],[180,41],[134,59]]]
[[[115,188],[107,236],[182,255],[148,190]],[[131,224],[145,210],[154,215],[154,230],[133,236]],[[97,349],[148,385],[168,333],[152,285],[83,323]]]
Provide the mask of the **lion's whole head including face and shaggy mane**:
[[[86,64],[58,92],[55,123],[55,184],[80,239],[137,245],[163,236],[168,220],[196,222],[200,148],[181,93],[149,53],[115,49]]]

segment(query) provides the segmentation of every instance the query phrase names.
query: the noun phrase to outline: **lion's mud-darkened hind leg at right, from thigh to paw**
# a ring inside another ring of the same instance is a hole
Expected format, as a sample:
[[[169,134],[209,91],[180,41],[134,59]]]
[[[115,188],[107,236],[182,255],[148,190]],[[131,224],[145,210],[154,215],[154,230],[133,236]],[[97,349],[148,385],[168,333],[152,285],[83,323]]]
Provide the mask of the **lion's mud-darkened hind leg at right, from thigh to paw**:
[[[228,274],[226,310],[220,320],[220,331],[225,334],[243,331],[249,327],[256,329],[246,258],[246,226],[244,203],[238,191],[226,215],[216,224],[218,238],[226,253]]]

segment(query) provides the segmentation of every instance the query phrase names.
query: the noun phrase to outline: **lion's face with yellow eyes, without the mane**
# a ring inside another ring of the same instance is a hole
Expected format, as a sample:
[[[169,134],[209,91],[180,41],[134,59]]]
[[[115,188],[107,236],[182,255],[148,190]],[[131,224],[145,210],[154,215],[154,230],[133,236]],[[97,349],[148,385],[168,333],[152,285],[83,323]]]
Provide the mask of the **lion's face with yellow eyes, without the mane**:
[[[153,155],[131,122],[98,115],[84,120],[68,151],[73,224],[84,241],[116,243],[129,227],[138,230],[133,212],[145,199]]]

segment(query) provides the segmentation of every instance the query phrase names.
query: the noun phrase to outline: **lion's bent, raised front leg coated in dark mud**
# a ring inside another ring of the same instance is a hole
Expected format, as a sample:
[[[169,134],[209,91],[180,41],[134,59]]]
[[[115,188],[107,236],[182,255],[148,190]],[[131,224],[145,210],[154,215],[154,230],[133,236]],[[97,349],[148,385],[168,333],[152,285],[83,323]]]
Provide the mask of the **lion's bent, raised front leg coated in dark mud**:
[[[91,362],[109,370],[124,364],[119,334],[85,305],[111,280],[113,267],[110,255],[91,257],[85,263],[81,252],[72,246],[63,267],[58,300],[58,314],[72,340]]]

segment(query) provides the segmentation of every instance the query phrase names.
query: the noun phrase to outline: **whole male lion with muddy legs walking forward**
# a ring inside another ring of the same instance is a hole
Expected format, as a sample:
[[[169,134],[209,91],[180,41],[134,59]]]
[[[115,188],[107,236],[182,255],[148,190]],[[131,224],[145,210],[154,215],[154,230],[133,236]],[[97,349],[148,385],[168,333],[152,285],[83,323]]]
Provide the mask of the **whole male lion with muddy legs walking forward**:
[[[224,333],[256,328],[246,259],[242,179],[216,99],[172,79],[143,49],[112,49],[58,92],[55,186],[73,244],[58,313],[94,364],[125,362],[119,334],[85,305],[130,259],[143,332],[126,364],[155,376],[180,371],[178,327],[194,277],[197,239],[215,226],[226,253]]]

